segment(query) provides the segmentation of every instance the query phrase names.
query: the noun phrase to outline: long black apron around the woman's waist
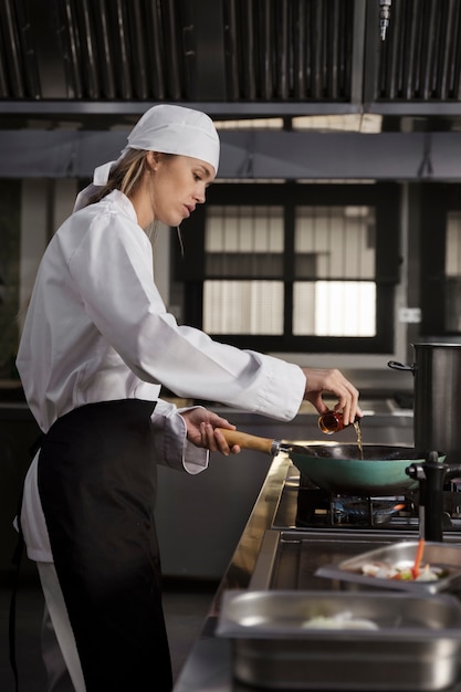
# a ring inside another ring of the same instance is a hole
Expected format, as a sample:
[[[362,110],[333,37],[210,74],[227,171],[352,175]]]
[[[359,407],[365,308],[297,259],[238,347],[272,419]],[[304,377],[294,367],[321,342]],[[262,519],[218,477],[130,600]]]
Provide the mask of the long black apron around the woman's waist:
[[[39,492],[87,692],[169,692],[153,401],[91,403],[41,443]]]

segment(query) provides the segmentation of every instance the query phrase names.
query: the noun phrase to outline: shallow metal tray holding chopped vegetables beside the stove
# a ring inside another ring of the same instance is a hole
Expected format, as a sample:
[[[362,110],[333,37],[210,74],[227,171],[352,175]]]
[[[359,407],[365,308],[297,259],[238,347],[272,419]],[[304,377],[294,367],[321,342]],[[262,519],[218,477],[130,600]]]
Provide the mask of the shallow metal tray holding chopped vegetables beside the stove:
[[[418,541],[399,541],[381,548],[362,553],[355,557],[338,563],[322,565],[316,569],[318,577],[329,577],[366,587],[397,589],[412,593],[438,594],[441,591],[455,593],[461,589],[461,546],[444,543],[425,543],[421,564],[447,569],[448,575],[434,581],[397,580],[370,577],[362,569],[370,563],[384,563],[398,568],[411,567],[418,548]]]

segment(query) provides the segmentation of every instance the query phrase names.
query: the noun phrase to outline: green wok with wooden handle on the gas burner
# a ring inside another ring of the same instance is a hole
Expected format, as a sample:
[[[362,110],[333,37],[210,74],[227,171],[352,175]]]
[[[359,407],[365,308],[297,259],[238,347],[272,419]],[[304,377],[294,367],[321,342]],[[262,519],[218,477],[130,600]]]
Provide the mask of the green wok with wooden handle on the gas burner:
[[[364,458],[357,444],[327,442],[292,444],[270,438],[220,429],[229,444],[272,455],[286,452],[301,474],[329,493],[343,495],[398,495],[417,489],[419,481],[407,474],[412,463],[423,463],[426,453],[411,447],[364,444]],[[444,455],[439,453],[439,461]]]

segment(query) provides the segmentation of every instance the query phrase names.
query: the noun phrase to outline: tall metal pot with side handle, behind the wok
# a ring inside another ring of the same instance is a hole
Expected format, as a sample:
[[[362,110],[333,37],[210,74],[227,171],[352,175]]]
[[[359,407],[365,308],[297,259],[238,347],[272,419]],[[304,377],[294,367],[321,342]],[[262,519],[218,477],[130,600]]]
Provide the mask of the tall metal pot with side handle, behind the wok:
[[[389,367],[415,376],[415,447],[442,450],[447,462],[461,457],[461,344],[412,344],[415,363]]]

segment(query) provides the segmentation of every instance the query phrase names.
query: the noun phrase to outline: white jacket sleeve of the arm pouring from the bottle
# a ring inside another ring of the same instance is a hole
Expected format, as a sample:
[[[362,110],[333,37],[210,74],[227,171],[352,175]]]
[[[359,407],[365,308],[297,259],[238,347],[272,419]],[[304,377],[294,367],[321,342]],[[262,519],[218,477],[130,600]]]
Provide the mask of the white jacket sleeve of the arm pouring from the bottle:
[[[151,268],[146,234],[121,214],[96,218],[69,261],[90,318],[128,367],[180,397],[293,419],[305,388],[301,368],[178,325]]]

